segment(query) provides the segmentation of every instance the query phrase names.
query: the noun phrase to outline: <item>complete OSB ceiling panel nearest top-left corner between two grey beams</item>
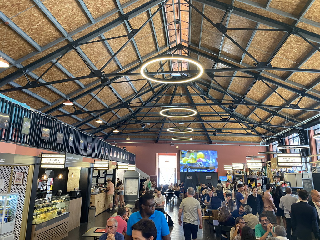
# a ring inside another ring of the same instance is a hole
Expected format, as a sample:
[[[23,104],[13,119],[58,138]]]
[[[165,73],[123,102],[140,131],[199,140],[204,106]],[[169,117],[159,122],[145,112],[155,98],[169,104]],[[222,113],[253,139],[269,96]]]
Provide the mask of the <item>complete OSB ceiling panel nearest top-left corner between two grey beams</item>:
[[[49,44],[62,36],[36,6],[28,8],[11,20],[40,46]]]

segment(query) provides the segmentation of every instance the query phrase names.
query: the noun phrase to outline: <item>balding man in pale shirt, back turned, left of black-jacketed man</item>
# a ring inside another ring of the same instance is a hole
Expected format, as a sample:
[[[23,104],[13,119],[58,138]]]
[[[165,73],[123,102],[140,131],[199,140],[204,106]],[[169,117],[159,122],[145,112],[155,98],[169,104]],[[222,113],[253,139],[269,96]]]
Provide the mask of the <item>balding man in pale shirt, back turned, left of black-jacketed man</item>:
[[[291,238],[291,217],[290,217],[290,211],[291,211],[291,205],[294,204],[298,199],[294,196],[292,196],[292,189],[286,188],[285,189],[286,195],[282,196],[280,198],[280,204],[279,207],[284,210],[284,217],[285,221],[287,223],[287,238]]]

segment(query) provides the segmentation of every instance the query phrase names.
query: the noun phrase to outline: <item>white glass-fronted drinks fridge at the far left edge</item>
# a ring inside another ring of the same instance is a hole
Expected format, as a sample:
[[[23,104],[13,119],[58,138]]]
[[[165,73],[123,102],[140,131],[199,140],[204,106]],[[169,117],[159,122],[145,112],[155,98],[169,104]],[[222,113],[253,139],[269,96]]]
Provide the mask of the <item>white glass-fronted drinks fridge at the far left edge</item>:
[[[17,214],[18,193],[0,194],[0,236],[14,230]]]

